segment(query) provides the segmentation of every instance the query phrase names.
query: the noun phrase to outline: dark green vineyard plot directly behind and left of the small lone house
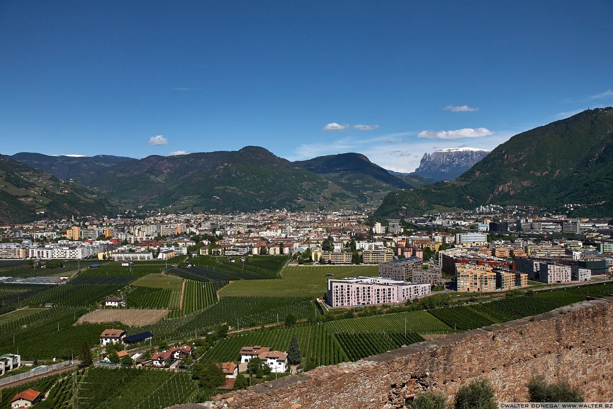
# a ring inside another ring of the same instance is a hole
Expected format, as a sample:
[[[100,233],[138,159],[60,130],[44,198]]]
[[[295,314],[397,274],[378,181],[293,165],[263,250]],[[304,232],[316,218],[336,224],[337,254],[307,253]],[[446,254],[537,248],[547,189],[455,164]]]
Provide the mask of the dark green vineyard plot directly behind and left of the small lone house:
[[[55,305],[83,307],[96,304],[107,296],[115,294],[123,286],[118,284],[64,284],[54,285],[23,301],[24,305],[38,306],[51,302]]]

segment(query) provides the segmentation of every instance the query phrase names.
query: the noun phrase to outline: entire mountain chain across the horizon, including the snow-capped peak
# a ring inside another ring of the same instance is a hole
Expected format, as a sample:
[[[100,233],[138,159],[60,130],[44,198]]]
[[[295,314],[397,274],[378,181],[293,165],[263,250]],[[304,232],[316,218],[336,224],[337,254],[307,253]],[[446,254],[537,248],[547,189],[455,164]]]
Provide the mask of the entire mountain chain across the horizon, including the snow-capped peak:
[[[613,212],[612,132],[613,108],[586,110],[522,132],[489,155],[473,148],[426,154],[419,169],[429,177],[390,172],[359,153],[291,162],[253,146],[143,159],[18,153],[0,156],[0,222],[128,208],[251,212],[381,204],[375,215],[389,217],[482,204],[583,204],[586,215]],[[479,155],[487,156],[449,180],[449,169]],[[449,177],[432,183],[434,172]]]

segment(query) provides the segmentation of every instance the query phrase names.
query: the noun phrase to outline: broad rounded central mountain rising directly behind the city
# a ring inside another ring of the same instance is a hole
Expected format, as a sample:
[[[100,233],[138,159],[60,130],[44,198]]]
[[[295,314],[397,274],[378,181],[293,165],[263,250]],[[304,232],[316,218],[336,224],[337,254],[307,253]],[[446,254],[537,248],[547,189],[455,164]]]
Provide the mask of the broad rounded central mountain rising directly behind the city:
[[[148,156],[74,178],[126,204],[172,211],[310,210],[370,200],[340,179],[337,184],[261,147]]]

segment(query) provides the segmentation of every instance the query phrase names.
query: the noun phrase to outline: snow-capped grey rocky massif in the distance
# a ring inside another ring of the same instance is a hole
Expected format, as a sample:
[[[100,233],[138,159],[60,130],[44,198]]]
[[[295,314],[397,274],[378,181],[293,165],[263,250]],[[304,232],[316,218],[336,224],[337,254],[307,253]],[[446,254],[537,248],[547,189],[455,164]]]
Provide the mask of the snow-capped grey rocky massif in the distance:
[[[447,148],[424,153],[414,173],[435,180],[454,180],[488,153],[478,148]]]

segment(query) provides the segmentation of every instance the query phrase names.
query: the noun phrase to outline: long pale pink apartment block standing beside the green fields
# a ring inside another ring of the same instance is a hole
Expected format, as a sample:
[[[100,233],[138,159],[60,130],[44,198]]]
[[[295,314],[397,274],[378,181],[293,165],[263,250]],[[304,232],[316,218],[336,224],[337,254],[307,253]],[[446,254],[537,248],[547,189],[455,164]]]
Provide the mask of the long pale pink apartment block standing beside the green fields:
[[[394,304],[430,293],[430,283],[410,283],[379,277],[328,280],[327,299],[332,307]]]

